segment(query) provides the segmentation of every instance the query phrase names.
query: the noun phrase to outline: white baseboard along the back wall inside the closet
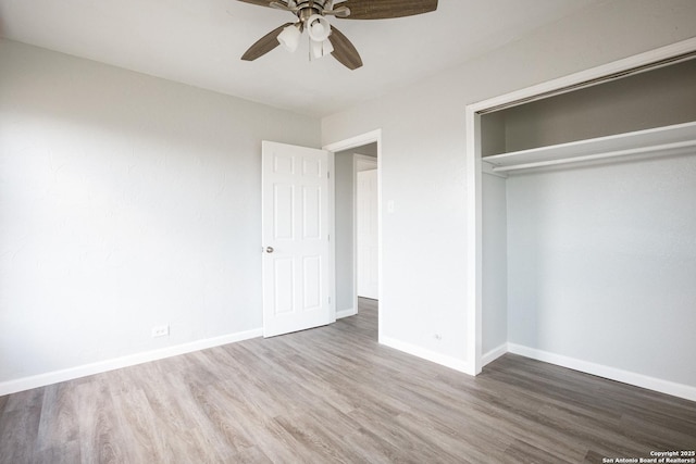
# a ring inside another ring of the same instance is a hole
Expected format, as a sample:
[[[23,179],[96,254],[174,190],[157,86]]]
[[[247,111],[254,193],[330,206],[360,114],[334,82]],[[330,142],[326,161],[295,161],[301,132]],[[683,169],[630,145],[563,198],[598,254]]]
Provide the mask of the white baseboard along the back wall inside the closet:
[[[544,361],[546,363],[556,364],[562,367],[568,367],[574,371],[605,377],[611,380],[617,380],[636,387],[659,391],[661,393],[671,394],[673,397],[696,401],[696,387],[692,387],[689,385],[662,380],[656,377],[636,374],[616,367],[605,366],[602,364],[591,363],[587,361],[564,356],[562,354],[550,353],[548,351],[537,350],[535,348],[529,348],[515,343],[508,343],[508,351],[510,353],[520,354],[533,360]]]

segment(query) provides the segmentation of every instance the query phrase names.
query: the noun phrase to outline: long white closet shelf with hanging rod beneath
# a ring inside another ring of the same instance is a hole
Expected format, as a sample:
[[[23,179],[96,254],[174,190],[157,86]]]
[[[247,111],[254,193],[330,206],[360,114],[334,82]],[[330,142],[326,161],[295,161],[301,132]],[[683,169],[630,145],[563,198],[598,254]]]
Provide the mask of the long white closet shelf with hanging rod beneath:
[[[513,151],[482,158],[494,173],[531,170],[637,154],[694,152],[696,122]]]

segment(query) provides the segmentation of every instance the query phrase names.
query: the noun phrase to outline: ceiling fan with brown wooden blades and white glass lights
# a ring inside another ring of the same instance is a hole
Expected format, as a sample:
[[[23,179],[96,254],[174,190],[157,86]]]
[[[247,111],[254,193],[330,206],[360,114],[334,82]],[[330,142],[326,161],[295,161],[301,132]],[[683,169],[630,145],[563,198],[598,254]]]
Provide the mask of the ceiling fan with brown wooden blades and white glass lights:
[[[324,16],[341,20],[387,20],[412,16],[437,10],[437,0],[239,0],[259,7],[288,11],[299,20],[286,23],[261,37],[241,57],[253,61],[278,45],[295,51],[302,32],[310,38],[310,57],[322,58],[331,53],[344,66],[357,70],[362,59],[356,47]],[[334,4],[336,3],[336,4]]]

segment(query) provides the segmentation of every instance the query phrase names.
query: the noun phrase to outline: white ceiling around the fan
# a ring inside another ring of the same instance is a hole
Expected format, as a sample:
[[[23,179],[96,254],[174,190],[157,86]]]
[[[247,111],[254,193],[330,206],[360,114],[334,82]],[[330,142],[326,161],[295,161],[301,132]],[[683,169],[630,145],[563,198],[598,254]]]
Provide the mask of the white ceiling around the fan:
[[[380,1],[380,0],[375,0]],[[239,57],[290,13],[236,0],[0,0],[9,39],[324,116],[453,67],[598,0],[440,0],[436,12],[383,21],[330,17],[364,66],[308,47]],[[1,63],[0,63],[1,65]]]

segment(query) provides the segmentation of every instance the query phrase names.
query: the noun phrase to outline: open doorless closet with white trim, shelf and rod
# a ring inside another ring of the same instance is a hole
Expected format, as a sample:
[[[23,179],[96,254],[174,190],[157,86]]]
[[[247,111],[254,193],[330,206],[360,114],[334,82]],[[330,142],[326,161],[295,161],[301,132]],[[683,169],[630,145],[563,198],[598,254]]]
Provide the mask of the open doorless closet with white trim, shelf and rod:
[[[512,352],[696,399],[694,50],[467,108],[474,374]]]

